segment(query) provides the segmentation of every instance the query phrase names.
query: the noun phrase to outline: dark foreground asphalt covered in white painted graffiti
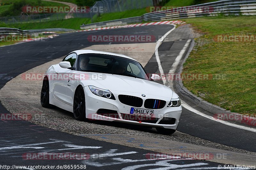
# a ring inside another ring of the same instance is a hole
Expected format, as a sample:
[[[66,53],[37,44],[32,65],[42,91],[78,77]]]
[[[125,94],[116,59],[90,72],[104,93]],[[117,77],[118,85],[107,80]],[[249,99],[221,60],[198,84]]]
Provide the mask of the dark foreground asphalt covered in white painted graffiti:
[[[12,165],[86,165],[86,169],[109,169],[109,167],[129,169],[132,168],[130,166],[137,165],[147,169],[159,167],[167,167],[168,169],[189,167],[204,169],[207,167],[212,169],[220,165],[209,161],[189,159],[172,159],[168,162],[167,160],[150,160],[147,159],[146,154],[152,153],[152,151],[49,130],[29,122],[2,122],[1,125],[4,133],[7,134],[1,137],[1,164],[11,167]],[[3,135],[3,131],[1,131],[1,135]],[[84,153],[86,150],[86,153],[92,153],[91,155],[96,156],[94,159],[91,156],[92,159],[88,160],[23,160],[21,158],[20,155],[24,153],[38,152],[37,147],[42,147],[40,152]],[[98,157],[101,159],[97,159]]]

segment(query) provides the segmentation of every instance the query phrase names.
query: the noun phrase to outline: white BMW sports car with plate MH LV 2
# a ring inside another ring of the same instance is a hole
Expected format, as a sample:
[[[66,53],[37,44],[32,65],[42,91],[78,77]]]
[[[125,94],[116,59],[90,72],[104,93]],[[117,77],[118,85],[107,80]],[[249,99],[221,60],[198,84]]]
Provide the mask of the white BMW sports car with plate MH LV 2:
[[[46,71],[41,91],[43,107],[73,112],[76,120],[96,119],[176,131],[181,115],[179,96],[154,82],[131,57],[76,50]]]

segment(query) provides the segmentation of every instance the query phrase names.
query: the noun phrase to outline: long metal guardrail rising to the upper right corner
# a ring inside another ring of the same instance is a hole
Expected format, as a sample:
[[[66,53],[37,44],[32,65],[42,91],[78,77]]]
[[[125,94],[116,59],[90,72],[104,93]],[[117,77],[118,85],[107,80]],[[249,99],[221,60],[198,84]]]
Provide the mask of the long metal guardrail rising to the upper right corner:
[[[207,10],[189,10],[193,8],[209,7]],[[184,10],[184,9],[188,10]],[[183,10],[183,11],[181,11]],[[175,12],[174,12],[175,11]],[[223,15],[256,15],[256,0],[221,0],[205,4],[175,8],[143,14],[139,17],[116,19],[92,24],[81,25],[81,29],[101,28],[108,26],[126,25],[144,21],[165,21],[170,19],[194,18],[202,16]]]

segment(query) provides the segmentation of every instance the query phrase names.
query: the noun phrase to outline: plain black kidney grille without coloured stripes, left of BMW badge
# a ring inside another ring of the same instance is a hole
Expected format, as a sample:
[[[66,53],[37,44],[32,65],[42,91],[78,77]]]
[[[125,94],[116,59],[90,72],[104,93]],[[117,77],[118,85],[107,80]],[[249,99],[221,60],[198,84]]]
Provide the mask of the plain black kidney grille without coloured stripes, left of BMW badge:
[[[141,107],[143,104],[142,98],[136,96],[118,95],[118,99],[121,103],[133,107]]]

